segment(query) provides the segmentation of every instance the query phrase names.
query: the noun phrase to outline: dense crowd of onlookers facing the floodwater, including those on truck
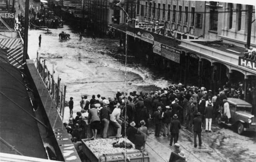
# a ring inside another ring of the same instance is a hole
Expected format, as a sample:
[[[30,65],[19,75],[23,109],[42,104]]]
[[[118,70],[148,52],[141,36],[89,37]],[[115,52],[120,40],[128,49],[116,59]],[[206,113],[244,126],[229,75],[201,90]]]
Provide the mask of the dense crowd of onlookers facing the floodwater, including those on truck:
[[[71,119],[67,126],[72,137],[79,141],[83,137],[83,124],[90,125],[93,132],[91,140],[96,139],[98,130],[102,129],[102,138],[107,138],[109,123],[117,129],[116,138],[125,136],[135,144],[136,149],[144,150],[148,129],[155,125],[155,137],[170,137],[170,146],[177,144],[181,125],[194,131],[194,147],[202,145],[202,123],[205,122],[205,132],[211,132],[212,119],[220,111],[228,123],[230,119],[227,89],[219,89],[212,93],[205,87],[185,87],[182,84],[171,85],[159,91],[139,94],[136,91],[127,93],[118,90],[115,97],[93,95],[92,99],[83,96],[81,112],[72,118],[73,101],[69,102]],[[192,127],[193,126],[193,127]],[[126,129],[126,130],[125,130]],[[160,133],[163,129],[163,134]],[[125,132],[126,131],[126,132]],[[77,133],[79,132],[79,133]]]

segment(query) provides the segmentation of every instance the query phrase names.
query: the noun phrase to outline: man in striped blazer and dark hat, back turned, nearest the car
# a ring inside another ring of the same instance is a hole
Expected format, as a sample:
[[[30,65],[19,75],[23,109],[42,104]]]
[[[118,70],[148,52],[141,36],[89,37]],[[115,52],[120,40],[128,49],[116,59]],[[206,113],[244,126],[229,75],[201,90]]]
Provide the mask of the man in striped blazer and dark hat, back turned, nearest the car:
[[[202,117],[201,113],[198,112],[197,116],[193,120],[194,125],[194,147],[197,147],[197,135],[199,140],[199,147],[202,145],[201,132],[202,132]]]

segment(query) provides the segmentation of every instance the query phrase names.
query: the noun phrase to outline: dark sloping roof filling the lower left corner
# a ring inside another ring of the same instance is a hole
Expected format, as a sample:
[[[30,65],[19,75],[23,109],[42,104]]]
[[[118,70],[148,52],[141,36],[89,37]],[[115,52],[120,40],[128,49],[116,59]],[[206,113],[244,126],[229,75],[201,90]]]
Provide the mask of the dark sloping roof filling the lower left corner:
[[[0,91],[35,116],[26,87],[18,81],[23,82],[21,73],[3,60],[0,60],[0,65]],[[0,94],[0,137],[25,156],[48,159],[37,122],[2,94]],[[16,154],[3,142],[0,144],[0,152]]]

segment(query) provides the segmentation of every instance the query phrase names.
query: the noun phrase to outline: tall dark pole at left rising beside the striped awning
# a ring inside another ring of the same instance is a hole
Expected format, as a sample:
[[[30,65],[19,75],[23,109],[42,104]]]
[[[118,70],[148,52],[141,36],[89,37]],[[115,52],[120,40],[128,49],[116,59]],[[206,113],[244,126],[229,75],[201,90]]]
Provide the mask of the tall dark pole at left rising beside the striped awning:
[[[29,0],[25,1],[25,26],[24,26],[24,48],[23,48],[23,62],[27,59],[27,41],[29,31]]]

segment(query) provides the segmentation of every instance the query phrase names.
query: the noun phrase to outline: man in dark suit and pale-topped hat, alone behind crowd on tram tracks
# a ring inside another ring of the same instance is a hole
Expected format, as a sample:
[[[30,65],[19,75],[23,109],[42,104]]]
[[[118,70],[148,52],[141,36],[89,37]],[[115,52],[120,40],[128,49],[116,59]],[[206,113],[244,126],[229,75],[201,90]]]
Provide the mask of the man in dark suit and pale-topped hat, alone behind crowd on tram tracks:
[[[178,119],[177,114],[174,114],[173,120],[170,126],[170,132],[171,132],[170,146],[172,146],[173,139],[174,139],[174,144],[177,143],[179,139],[179,130],[181,129],[181,124],[180,124],[180,121],[177,119]]]

